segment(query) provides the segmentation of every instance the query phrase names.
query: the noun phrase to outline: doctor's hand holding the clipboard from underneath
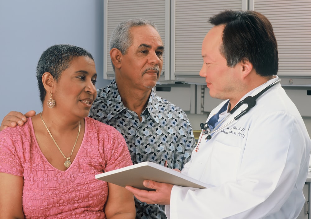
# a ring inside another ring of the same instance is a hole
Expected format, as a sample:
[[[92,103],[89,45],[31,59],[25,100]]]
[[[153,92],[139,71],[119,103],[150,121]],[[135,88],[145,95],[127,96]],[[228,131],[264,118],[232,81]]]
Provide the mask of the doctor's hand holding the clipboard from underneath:
[[[144,186],[149,189],[156,189],[156,191],[136,189],[132,186],[125,186],[125,189],[132,192],[135,197],[141,202],[160,205],[170,204],[171,191],[174,185],[167,183],[158,183],[152,180],[144,180]]]

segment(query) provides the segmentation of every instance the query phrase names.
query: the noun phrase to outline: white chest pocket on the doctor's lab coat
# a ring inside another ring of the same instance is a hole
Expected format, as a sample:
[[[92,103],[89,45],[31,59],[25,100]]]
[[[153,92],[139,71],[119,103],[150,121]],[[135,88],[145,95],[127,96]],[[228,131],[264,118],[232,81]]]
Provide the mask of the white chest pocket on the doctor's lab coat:
[[[211,184],[219,185],[228,181],[235,181],[240,160],[239,147],[214,142],[207,167]]]

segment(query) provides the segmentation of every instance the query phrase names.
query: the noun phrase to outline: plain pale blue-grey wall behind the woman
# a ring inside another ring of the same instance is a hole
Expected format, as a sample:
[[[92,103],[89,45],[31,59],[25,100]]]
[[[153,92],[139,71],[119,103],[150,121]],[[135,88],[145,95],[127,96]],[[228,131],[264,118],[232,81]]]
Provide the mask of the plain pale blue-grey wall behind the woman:
[[[54,44],[73,44],[95,59],[103,79],[102,0],[0,0],[0,121],[11,110],[41,112],[35,68]]]

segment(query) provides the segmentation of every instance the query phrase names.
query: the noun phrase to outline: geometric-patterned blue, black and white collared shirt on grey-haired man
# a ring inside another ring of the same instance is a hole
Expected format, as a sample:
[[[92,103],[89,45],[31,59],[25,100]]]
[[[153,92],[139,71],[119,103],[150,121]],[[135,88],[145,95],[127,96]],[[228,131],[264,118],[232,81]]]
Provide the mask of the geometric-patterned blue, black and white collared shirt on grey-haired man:
[[[169,168],[183,169],[195,147],[187,115],[176,105],[151,95],[139,121],[136,112],[127,109],[113,80],[97,91],[90,117],[115,127],[125,138],[133,164],[151,161]],[[136,218],[166,218],[164,206],[148,205],[135,199]]]

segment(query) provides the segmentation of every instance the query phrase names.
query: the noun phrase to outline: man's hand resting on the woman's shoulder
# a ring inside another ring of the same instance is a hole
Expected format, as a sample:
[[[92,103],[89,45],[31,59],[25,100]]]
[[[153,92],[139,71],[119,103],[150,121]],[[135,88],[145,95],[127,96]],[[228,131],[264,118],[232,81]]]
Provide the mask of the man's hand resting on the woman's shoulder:
[[[36,112],[34,110],[30,110],[25,115],[20,112],[11,111],[3,118],[0,126],[0,131],[6,129],[7,127],[16,127],[17,125],[23,126],[27,120],[26,118],[32,117],[35,114]]]

